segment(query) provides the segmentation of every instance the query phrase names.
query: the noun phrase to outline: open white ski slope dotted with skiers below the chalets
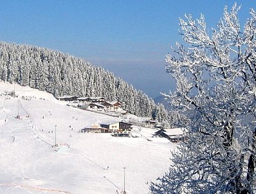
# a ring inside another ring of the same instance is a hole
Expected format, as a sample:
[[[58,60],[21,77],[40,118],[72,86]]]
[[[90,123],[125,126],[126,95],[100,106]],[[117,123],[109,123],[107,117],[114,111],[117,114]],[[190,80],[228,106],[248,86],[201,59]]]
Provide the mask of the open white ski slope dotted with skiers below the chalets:
[[[19,97],[6,98],[13,89],[0,82],[0,193],[120,193],[124,167],[126,192],[148,193],[167,171],[175,145],[152,138],[153,129],[135,129],[138,138],[80,133],[117,118],[67,107],[30,87],[16,85]]]

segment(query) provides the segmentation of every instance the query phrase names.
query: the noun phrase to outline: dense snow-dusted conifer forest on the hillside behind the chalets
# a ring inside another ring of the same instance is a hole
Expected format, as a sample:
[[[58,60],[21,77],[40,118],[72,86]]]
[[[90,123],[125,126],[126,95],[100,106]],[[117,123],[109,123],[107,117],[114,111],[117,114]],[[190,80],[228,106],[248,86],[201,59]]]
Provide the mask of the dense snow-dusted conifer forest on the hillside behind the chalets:
[[[142,91],[85,60],[41,47],[0,42],[0,79],[62,95],[103,96],[137,116],[169,123],[171,114]],[[173,115],[172,115],[173,116]]]

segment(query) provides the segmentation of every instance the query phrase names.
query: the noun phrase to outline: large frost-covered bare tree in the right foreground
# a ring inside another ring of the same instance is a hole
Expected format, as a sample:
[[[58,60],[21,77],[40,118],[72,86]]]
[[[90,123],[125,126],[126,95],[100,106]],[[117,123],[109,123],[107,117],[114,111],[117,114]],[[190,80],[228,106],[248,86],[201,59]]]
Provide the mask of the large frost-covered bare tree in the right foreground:
[[[184,44],[166,58],[177,88],[167,97],[189,118],[188,140],[152,193],[256,193],[256,12],[241,27],[239,9],[225,7],[210,32],[204,15],[180,19]]]

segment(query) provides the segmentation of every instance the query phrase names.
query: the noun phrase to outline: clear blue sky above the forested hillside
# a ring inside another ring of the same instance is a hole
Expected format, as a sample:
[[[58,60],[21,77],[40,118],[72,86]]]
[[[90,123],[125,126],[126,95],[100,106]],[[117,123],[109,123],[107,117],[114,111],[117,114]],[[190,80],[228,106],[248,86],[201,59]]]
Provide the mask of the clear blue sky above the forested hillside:
[[[237,2],[241,23],[255,0],[242,1],[1,1],[0,40],[47,47],[104,67],[150,97],[175,83],[165,73],[165,55],[176,41],[178,18],[205,15],[214,27]]]

